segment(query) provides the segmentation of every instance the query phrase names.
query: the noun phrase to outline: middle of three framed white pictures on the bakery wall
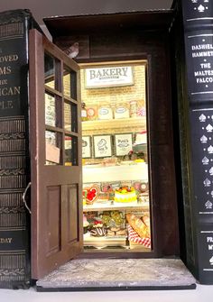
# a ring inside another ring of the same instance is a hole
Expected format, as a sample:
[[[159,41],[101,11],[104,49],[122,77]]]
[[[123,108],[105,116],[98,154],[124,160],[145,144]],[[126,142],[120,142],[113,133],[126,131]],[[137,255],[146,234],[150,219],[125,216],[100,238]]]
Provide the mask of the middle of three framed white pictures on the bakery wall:
[[[94,135],[94,157],[104,158],[112,156],[112,136],[111,135]]]

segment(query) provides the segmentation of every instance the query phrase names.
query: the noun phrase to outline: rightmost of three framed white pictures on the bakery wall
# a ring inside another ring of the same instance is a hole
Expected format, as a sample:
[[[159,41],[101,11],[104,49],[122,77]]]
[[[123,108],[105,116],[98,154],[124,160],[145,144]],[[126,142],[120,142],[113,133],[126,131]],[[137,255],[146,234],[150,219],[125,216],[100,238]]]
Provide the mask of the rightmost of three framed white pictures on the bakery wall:
[[[115,134],[116,156],[125,156],[133,150],[133,134]]]

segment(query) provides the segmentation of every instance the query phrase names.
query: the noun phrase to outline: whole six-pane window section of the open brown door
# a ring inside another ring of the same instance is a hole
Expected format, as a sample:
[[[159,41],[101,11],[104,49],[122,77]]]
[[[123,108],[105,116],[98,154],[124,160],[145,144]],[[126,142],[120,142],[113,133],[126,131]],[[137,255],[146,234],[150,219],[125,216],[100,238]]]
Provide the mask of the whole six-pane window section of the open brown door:
[[[45,164],[78,166],[79,127],[76,71],[69,69],[59,59],[45,53],[44,75]]]

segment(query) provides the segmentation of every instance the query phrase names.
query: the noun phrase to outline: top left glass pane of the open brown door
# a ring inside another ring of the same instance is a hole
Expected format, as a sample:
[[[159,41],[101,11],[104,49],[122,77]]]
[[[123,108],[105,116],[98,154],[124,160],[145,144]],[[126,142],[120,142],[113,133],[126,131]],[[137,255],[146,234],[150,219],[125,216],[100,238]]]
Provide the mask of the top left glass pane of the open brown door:
[[[55,88],[55,61],[47,53],[44,54],[44,77],[45,85]]]

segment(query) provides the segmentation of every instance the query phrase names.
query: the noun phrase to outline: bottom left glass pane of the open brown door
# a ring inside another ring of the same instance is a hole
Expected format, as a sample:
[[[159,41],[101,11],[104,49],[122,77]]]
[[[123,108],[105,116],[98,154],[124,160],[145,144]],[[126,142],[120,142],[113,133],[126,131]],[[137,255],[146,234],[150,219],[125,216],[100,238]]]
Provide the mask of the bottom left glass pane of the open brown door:
[[[46,165],[60,165],[61,134],[51,131],[46,131],[45,140],[46,140]]]

